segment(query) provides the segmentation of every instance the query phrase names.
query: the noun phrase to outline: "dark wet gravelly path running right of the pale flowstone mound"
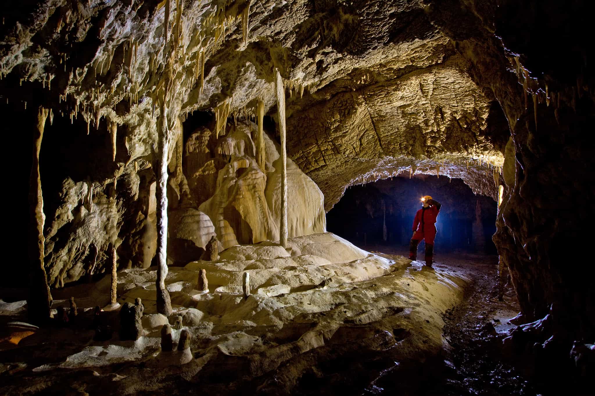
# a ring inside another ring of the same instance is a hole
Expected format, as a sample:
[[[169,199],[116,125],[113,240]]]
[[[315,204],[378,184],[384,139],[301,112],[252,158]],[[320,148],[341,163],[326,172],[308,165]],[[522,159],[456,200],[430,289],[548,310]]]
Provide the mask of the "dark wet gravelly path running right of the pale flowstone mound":
[[[408,254],[407,246],[360,247],[387,257]],[[422,249],[419,257],[423,258]],[[434,260],[437,269],[456,271],[471,280],[462,302],[443,315],[444,340],[450,347],[429,364],[414,364],[381,375],[366,389],[366,394],[538,394],[538,384],[532,383],[528,372],[502,356],[502,339],[516,327],[509,320],[519,313],[520,307],[511,283],[505,286],[503,301],[497,300],[497,256],[453,252],[439,253]],[[548,394],[544,389],[540,391]]]

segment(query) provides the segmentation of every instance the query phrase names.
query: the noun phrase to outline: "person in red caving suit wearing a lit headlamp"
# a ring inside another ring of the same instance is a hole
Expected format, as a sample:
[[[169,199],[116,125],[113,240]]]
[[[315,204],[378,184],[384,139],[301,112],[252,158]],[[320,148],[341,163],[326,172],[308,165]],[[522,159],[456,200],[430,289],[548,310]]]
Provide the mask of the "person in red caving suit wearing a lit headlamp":
[[[413,236],[409,242],[409,258],[417,260],[417,245],[425,239],[425,265],[432,266],[434,254],[434,237],[436,237],[436,217],[440,213],[440,202],[434,201],[430,195],[421,198],[424,205],[415,214]]]

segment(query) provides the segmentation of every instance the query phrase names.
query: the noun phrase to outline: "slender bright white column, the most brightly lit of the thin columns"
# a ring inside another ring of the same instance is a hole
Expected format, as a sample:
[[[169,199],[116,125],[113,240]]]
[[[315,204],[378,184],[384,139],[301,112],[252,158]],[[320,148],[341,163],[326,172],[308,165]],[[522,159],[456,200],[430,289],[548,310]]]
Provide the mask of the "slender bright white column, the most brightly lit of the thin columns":
[[[155,198],[157,201],[157,312],[165,316],[171,315],[170,293],[165,288],[167,277],[167,107],[165,100],[161,103],[161,115],[158,125],[157,167],[155,178]]]

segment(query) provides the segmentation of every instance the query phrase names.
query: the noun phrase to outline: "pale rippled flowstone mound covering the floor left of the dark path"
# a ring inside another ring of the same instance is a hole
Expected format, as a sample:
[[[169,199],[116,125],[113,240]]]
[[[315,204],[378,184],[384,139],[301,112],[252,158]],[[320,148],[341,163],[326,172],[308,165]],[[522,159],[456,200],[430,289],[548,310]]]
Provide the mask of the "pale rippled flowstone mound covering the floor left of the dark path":
[[[196,290],[203,269],[208,291]],[[287,249],[270,242],[233,246],[218,261],[171,267],[165,281],[174,307],[169,318],[156,313],[155,277],[153,267],[118,273],[118,304],[140,297],[145,306],[142,337],[121,341],[114,332],[110,340],[93,341],[93,331],[75,324],[34,329],[0,351],[3,362],[14,362],[5,363],[5,370],[22,366],[11,374],[7,393],[165,394],[174,384],[180,392],[201,384],[219,394],[243,387],[285,394],[302,389],[312,373],[326,378],[325,386],[341,377],[365,387],[379,375],[378,362],[349,379],[353,365],[383,357],[381,365],[389,359],[394,366],[443,349],[440,314],[461,299],[468,281],[448,271],[420,270],[402,256],[370,254],[331,233],[291,238]],[[83,286],[70,288],[86,294],[77,299],[82,321],[93,305],[107,301],[109,280]],[[57,300],[52,308],[67,303]],[[22,312],[15,303],[0,309]],[[118,312],[105,309],[103,320],[111,323],[113,314],[117,321]],[[161,351],[167,324],[174,346],[181,332],[192,334],[186,341],[191,359],[187,349]],[[58,378],[68,381],[58,384]]]

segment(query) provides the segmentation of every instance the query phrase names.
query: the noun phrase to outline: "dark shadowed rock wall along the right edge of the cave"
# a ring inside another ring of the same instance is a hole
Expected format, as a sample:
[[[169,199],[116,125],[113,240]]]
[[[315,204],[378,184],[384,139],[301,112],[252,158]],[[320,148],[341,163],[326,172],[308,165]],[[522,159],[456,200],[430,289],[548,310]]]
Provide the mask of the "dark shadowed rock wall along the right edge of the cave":
[[[577,245],[581,224],[594,216],[578,198],[593,195],[594,157],[585,133],[595,115],[593,53],[580,11],[586,4],[428,5],[434,26],[452,37],[473,80],[494,93],[509,121],[514,157],[506,158],[494,241],[527,318],[552,313],[566,344],[572,337],[592,339],[595,331],[595,295],[587,281],[594,270],[588,248]]]

